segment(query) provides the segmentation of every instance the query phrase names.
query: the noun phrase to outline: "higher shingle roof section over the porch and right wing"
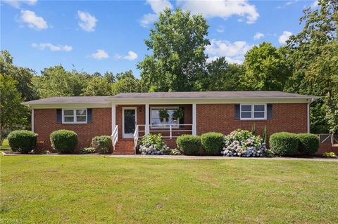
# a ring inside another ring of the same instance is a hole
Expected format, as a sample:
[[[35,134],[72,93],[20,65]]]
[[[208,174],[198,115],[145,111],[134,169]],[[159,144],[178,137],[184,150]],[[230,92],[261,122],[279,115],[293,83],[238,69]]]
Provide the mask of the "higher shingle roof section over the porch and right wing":
[[[210,92],[156,92],[156,93],[119,93],[109,99],[146,99],[146,98],[317,98],[312,95],[284,93],[281,91],[210,91]]]

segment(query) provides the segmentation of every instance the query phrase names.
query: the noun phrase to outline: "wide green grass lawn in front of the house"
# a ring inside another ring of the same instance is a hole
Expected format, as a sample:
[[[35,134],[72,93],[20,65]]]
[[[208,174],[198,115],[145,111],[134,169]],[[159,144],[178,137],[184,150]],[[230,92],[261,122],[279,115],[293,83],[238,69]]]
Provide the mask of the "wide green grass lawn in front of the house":
[[[1,218],[22,223],[336,223],[337,162],[12,156]]]

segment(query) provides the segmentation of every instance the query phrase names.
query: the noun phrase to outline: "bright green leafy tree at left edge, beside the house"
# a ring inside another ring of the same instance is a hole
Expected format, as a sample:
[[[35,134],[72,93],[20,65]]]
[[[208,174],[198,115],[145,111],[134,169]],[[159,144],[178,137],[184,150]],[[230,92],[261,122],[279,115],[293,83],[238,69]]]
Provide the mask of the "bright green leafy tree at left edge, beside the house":
[[[18,81],[0,73],[0,145],[8,133],[27,126],[27,107],[21,105],[21,93],[16,88]]]

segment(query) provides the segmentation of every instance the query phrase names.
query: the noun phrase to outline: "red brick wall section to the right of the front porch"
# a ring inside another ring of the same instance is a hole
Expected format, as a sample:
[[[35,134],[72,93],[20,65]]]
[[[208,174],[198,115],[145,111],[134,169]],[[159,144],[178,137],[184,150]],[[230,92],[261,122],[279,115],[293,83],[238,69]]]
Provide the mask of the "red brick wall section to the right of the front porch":
[[[236,129],[251,131],[256,124],[257,133],[261,135],[266,125],[268,135],[289,131],[306,133],[307,105],[306,103],[273,104],[273,119],[244,121],[234,119],[233,104],[198,104],[196,105],[197,134],[216,131],[229,134]]]

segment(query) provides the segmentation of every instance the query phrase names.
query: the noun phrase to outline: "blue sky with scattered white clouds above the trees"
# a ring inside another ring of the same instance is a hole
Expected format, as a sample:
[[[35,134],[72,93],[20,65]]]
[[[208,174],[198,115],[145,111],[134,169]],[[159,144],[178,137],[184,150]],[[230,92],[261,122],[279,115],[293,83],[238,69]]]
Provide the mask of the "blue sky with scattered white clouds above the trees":
[[[1,50],[37,74],[63,65],[89,73],[132,70],[147,51],[144,39],[160,11],[177,6],[202,13],[210,25],[209,61],[242,62],[263,41],[281,46],[301,29],[303,8],[315,1],[4,1]]]

